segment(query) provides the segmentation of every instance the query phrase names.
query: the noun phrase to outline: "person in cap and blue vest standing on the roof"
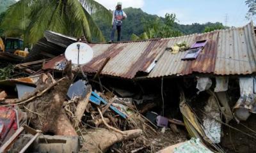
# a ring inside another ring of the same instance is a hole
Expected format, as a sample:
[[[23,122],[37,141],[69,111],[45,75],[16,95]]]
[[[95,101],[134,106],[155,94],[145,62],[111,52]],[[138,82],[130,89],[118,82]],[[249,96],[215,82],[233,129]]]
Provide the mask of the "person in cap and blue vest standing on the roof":
[[[116,5],[116,10],[113,11],[113,18],[112,18],[112,32],[111,32],[111,41],[114,41],[115,32],[117,29],[117,41],[121,39],[121,29],[123,20],[127,18],[127,15],[122,10],[122,3],[118,2]]]

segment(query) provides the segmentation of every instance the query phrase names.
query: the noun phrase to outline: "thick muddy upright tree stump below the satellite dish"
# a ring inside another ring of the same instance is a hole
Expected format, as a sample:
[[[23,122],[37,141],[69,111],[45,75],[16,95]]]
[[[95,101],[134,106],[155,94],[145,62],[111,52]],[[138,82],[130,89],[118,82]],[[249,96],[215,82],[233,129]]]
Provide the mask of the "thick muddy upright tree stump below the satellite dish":
[[[67,65],[68,68],[65,68],[67,69],[65,72],[68,73],[71,71],[71,63]],[[45,84],[45,82],[51,83]],[[54,135],[77,135],[62,108],[71,82],[72,73],[68,73],[67,77],[58,82],[55,82],[50,74],[48,74],[48,77],[42,75],[36,89],[44,93],[39,92],[40,96],[30,98],[31,101],[26,106],[28,119],[30,119],[33,128],[41,130],[42,133],[52,133]]]

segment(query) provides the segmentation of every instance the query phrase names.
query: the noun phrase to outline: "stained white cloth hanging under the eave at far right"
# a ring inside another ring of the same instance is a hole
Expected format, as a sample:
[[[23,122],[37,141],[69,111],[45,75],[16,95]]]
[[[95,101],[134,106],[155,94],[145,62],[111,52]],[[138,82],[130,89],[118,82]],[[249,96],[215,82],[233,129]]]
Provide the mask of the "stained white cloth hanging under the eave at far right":
[[[254,78],[239,78],[240,98],[233,108],[237,122],[247,120],[250,113],[256,113],[256,94],[254,94]]]

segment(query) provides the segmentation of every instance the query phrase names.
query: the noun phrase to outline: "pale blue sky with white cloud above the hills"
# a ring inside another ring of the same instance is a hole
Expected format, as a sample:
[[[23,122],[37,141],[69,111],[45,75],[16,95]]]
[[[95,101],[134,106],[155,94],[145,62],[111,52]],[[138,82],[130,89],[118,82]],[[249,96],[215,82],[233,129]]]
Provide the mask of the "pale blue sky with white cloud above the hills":
[[[248,24],[245,0],[96,0],[108,9],[115,9],[121,1],[123,8],[141,8],[143,11],[164,17],[175,13],[180,24],[222,22],[228,26]]]

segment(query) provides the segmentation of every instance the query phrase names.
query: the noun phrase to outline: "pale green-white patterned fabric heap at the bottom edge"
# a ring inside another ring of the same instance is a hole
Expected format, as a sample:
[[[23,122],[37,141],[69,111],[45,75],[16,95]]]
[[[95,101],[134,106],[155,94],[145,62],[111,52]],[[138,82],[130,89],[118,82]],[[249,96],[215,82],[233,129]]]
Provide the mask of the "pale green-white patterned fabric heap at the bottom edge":
[[[188,142],[183,143],[174,150],[174,153],[213,153],[207,149],[199,138],[191,138]]]

